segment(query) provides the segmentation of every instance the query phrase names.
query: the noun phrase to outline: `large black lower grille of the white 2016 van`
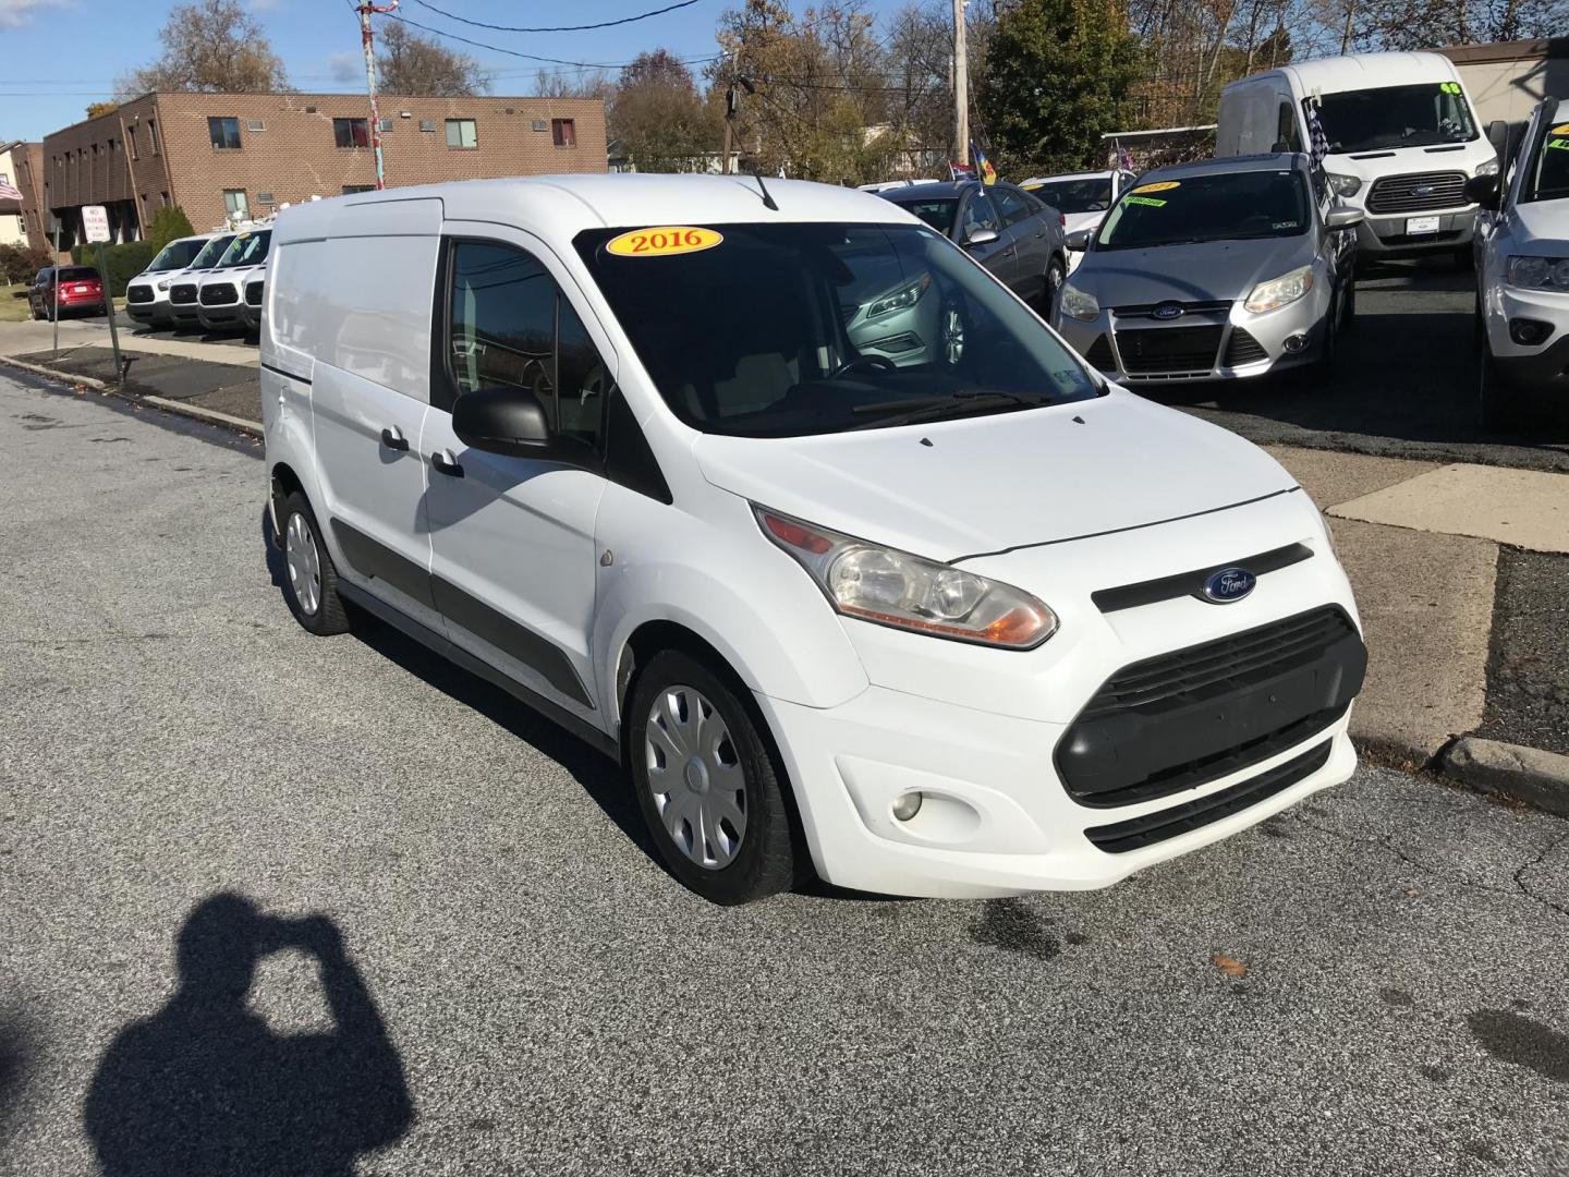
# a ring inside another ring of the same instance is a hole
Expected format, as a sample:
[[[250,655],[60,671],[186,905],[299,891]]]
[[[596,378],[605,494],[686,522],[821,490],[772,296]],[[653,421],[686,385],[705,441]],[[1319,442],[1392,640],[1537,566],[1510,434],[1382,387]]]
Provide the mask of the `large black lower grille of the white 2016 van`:
[[[1345,714],[1365,672],[1367,650],[1337,606],[1134,662],[1064,733],[1058,772],[1094,807],[1196,788],[1312,739]]]

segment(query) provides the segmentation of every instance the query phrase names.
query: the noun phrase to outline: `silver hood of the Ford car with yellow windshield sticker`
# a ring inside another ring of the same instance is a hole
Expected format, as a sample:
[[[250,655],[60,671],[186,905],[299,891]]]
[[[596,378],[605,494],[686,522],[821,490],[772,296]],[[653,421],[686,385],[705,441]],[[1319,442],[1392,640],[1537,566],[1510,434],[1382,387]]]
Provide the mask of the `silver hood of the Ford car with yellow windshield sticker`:
[[[1247,298],[1258,282],[1313,261],[1313,234],[1194,242],[1150,250],[1090,250],[1073,286],[1101,306]]]

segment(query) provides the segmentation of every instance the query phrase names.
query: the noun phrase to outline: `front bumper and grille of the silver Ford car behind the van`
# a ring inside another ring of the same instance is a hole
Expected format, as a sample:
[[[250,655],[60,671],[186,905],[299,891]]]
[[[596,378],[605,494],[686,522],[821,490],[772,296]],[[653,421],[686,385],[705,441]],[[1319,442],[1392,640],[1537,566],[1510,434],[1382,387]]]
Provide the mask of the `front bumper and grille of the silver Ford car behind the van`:
[[[1252,380],[1318,359],[1327,311],[1327,292],[1315,287],[1288,306],[1257,315],[1240,301],[1229,311],[1188,312],[1164,323],[1101,308],[1089,322],[1059,314],[1058,331],[1092,367],[1128,388]],[[1194,342],[1181,348],[1149,347],[1155,333],[1166,331],[1180,331]],[[1299,342],[1296,350],[1288,350],[1288,341]],[[1159,358],[1163,353],[1166,359]]]

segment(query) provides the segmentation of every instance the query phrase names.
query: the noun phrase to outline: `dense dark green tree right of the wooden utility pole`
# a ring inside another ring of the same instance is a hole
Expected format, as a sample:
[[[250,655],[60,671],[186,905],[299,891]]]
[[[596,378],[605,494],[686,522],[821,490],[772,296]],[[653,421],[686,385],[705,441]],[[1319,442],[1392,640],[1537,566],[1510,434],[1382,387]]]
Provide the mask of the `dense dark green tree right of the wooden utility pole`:
[[[977,107],[999,173],[1101,163],[1139,74],[1123,0],[1014,0],[999,6]]]

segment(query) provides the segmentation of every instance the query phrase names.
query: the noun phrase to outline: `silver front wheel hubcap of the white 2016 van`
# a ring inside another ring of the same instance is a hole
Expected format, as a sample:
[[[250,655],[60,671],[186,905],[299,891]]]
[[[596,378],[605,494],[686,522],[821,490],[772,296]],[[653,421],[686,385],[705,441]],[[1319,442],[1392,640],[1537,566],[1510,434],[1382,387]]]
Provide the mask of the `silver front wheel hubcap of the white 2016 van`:
[[[704,869],[728,866],[747,836],[747,777],[723,717],[701,691],[673,686],[648,712],[643,753],[672,841]]]

